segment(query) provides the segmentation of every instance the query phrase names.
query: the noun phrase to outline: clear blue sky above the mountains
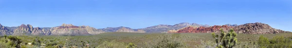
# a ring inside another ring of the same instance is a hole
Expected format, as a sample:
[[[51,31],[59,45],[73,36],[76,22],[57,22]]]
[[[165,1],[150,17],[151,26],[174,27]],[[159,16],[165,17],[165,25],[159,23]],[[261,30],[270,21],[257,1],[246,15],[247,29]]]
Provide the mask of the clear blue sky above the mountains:
[[[181,22],[262,22],[292,31],[292,0],[0,0],[0,24],[133,29]]]

